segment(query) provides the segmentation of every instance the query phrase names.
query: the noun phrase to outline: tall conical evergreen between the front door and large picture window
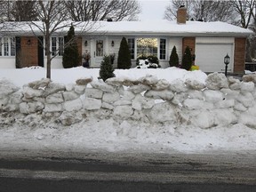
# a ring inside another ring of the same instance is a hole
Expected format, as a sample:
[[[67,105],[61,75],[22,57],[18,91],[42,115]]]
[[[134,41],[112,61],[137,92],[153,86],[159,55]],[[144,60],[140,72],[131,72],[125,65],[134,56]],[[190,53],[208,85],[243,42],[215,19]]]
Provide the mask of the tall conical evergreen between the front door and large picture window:
[[[132,60],[131,60],[131,52],[129,50],[128,43],[125,37],[122,38],[118,58],[117,58],[117,68],[131,68],[132,67]]]

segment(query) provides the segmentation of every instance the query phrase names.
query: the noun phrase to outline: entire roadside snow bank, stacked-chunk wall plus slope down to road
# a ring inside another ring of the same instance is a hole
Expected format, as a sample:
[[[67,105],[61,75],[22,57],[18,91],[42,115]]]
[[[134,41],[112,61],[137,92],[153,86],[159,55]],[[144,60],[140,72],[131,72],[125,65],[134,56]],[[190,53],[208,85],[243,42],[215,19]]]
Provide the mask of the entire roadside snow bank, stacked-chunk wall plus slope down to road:
[[[118,72],[106,83],[88,76],[74,84],[42,79],[20,88],[0,80],[1,145],[28,140],[40,148],[57,140],[67,148],[110,150],[256,147],[256,75],[241,82],[218,73],[203,81],[200,71],[181,70],[172,80],[157,77],[159,71],[144,76],[141,70],[137,78]]]

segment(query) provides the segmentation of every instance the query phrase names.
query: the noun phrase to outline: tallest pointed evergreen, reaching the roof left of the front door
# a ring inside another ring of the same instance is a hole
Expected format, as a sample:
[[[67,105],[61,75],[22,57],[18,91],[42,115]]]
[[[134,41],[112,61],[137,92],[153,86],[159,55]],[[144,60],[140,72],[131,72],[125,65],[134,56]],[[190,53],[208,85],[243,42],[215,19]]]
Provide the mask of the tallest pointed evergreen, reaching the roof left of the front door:
[[[59,50],[60,52],[60,50]],[[62,57],[63,68],[74,68],[79,63],[79,53],[76,43],[75,28],[71,26],[65,38],[65,48]]]

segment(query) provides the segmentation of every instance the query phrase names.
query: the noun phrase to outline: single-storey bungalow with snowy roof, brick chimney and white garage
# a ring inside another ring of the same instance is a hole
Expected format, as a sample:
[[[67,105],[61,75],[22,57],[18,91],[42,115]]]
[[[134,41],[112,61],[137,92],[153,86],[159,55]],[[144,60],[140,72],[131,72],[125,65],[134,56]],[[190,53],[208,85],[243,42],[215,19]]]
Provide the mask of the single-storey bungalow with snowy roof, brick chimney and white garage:
[[[105,54],[116,55],[124,36],[128,42],[132,67],[140,55],[155,55],[162,68],[169,67],[170,54],[175,45],[180,63],[186,47],[195,54],[195,64],[204,72],[223,72],[224,57],[228,54],[230,63],[228,71],[244,73],[245,44],[247,36],[252,35],[249,29],[239,28],[228,23],[188,21],[187,10],[178,10],[177,21],[97,21],[90,28],[83,30],[88,22],[73,25],[76,29],[78,51],[81,55],[89,52],[90,68],[100,68],[100,62]],[[71,25],[71,21],[70,21]],[[62,68],[64,36],[69,28],[52,34],[52,68]],[[44,40],[43,34],[36,28],[31,31],[26,22],[15,22],[12,30],[0,27],[0,68],[21,68],[30,66],[46,66],[44,48],[39,41]],[[57,52],[59,50],[60,52]]]

